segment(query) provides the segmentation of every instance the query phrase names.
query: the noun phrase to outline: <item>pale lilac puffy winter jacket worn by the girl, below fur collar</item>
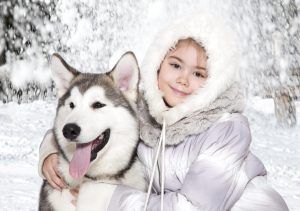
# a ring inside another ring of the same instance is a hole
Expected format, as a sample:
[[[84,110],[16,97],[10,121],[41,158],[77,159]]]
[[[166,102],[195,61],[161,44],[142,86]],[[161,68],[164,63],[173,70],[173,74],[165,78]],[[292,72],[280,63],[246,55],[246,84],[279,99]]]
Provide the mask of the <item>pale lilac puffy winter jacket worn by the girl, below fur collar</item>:
[[[266,170],[249,151],[251,135],[241,114],[226,115],[207,131],[165,150],[164,211],[288,210],[266,183]],[[143,143],[138,154],[150,178],[156,149]],[[161,166],[158,165],[157,172]],[[154,177],[147,210],[160,210],[160,178]],[[119,185],[108,210],[142,210],[146,193]]]

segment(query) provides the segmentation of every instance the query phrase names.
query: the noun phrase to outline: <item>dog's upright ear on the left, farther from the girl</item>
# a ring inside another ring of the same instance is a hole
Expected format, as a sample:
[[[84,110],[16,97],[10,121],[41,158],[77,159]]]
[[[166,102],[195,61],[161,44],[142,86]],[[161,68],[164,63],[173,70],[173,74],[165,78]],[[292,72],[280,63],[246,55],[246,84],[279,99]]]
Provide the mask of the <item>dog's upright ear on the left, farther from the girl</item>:
[[[51,72],[58,98],[66,93],[72,79],[79,74],[57,53],[54,53],[51,57]]]

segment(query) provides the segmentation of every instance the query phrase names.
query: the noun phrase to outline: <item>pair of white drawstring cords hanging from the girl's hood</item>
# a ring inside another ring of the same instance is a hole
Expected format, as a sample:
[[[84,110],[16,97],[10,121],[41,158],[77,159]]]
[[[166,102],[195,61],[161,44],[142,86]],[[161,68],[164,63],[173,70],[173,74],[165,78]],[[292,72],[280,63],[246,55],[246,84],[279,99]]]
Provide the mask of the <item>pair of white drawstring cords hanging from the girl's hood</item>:
[[[146,196],[146,202],[144,205],[143,211],[147,211],[147,206],[149,203],[149,198],[151,195],[151,190],[153,187],[153,180],[154,180],[154,175],[156,171],[156,166],[158,164],[158,156],[161,153],[161,193],[160,193],[160,210],[164,210],[164,193],[165,193],[165,146],[166,146],[166,121],[165,119],[163,120],[163,127],[162,127],[162,132],[160,134],[159,142],[158,142],[158,147],[155,155],[155,159],[153,162],[153,167],[152,167],[152,172],[151,172],[151,177],[150,177],[150,183],[147,191],[147,196]],[[162,149],[161,149],[162,148]]]

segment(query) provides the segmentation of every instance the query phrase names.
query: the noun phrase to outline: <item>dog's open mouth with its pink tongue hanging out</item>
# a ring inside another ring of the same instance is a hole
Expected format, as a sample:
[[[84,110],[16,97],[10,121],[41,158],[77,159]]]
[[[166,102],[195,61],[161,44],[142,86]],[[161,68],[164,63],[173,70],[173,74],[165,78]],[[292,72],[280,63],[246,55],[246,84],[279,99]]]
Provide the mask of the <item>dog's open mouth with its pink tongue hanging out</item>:
[[[106,129],[95,140],[76,144],[76,150],[70,161],[69,172],[75,179],[82,178],[88,171],[90,163],[96,159],[97,154],[108,143],[110,137],[110,129]]]

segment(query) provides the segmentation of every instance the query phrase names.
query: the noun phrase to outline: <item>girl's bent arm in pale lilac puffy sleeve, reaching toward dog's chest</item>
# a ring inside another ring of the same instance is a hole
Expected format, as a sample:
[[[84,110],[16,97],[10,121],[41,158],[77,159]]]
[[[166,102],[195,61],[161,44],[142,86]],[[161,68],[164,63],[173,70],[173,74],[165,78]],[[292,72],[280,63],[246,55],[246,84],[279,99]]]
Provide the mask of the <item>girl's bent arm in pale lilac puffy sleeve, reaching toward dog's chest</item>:
[[[257,158],[251,156],[249,162],[245,161],[250,140],[248,124],[240,119],[219,123],[211,129],[181,188],[165,193],[164,210],[230,209],[248,181],[265,174]],[[141,210],[145,197],[144,192],[118,186],[108,210]],[[160,195],[150,196],[147,210],[160,210]]]

